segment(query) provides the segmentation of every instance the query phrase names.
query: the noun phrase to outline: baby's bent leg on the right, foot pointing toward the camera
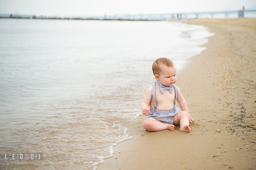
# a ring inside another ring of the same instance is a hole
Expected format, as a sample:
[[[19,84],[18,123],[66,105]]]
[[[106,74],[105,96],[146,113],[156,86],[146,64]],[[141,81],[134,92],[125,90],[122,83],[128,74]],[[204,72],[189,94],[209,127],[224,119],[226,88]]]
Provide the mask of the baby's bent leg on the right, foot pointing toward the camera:
[[[186,111],[178,111],[174,116],[174,125],[180,125],[180,131],[190,132],[189,114]]]

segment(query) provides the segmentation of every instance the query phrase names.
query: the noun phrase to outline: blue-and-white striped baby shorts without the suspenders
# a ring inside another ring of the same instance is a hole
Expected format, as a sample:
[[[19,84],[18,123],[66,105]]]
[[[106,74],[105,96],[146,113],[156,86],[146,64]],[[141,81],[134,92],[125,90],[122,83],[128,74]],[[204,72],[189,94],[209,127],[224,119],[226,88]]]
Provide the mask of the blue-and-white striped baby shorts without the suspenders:
[[[149,108],[148,118],[152,117],[156,120],[162,121],[164,124],[174,124],[173,116],[175,116],[180,108],[174,106],[171,110],[154,110],[154,108]]]

